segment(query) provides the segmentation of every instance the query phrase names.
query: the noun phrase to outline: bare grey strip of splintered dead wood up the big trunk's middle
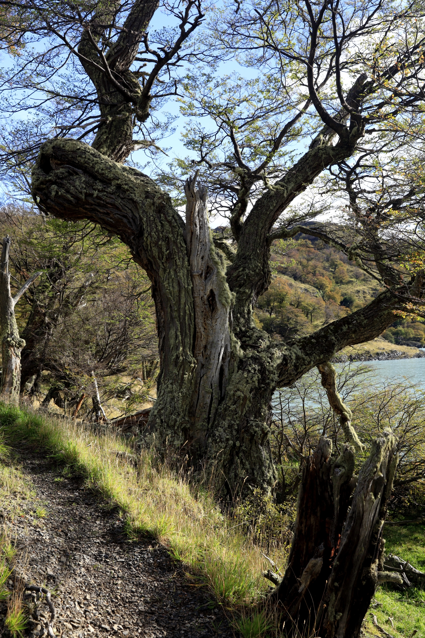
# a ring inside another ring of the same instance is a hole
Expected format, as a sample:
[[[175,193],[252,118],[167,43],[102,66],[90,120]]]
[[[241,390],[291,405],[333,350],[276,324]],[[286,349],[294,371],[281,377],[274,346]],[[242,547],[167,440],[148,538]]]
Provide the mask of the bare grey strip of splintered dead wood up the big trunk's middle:
[[[203,449],[208,426],[224,397],[229,378],[231,293],[224,260],[215,250],[208,225],[206,189],[196,188],[197,175],[185,184],[186,242],[194,300],[196,360],[191,440],[198,441]]]

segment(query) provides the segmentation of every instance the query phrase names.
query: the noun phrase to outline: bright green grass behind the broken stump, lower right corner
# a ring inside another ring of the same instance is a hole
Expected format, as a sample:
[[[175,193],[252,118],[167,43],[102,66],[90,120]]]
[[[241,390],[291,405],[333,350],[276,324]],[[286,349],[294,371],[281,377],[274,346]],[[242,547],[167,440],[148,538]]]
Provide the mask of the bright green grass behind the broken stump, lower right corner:
[[[385,553],[396,554],[408,560],[413,567],[425,569],[425,526],[424,525],[386,525],[384,528]],[[394,638],[410,638],[416,631],[417,638],[425,637],[425,592],[417,588],[396,591],[384,584],[375,595],[375,602],[382,606],[370,609],[366,614],[368,635],[381,636],[377,627],[373,627],[372,613],[377,616],[378,625]],[[389,618],[392,618],[394,628]]]

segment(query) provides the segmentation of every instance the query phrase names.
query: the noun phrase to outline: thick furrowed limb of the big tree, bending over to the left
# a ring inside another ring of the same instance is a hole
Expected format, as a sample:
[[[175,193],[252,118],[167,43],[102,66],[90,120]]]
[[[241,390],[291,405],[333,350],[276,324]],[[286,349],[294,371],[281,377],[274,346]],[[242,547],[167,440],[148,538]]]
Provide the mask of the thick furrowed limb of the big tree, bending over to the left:
[[[43,211],[62,219],[90,219],[119,235],[147,272],[161,355],[150,426],[155,431],[158,422],[169,445],[182,445],[196,365],[194,302],[186,229],[171,199],[147,175],[75,140],[43,144],[32,170],[32,192]]]

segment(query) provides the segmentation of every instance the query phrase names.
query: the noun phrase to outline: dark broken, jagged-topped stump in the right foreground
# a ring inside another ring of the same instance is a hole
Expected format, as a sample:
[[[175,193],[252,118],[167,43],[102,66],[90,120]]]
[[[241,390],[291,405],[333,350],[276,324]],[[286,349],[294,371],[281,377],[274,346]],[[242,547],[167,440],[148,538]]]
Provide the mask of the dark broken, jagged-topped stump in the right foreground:
[[[395,447],[393,433],[384,431],[358,478],[349,445],[333,459],[332,443],[322,437],[307,459],[288,565],[273,592],[294,635],[359,637],[378,583]]]

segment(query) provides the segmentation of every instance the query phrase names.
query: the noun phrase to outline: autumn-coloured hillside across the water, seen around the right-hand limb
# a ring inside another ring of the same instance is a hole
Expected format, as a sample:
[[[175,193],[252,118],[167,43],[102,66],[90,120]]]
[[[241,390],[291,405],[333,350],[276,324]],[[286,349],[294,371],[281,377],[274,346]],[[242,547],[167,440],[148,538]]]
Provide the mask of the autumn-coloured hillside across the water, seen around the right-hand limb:
[[[259,297],[256,321],[275,338],[310,334],[326,323],[363,308],[381,288],[346,255],[313,237],[273,244],[273,279]],[[425,346],[425,325],[394,315],[394,323],[378,340],[345,349],[350,359],[418,357]]]

